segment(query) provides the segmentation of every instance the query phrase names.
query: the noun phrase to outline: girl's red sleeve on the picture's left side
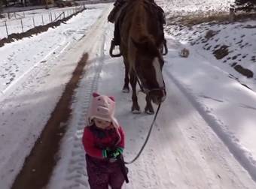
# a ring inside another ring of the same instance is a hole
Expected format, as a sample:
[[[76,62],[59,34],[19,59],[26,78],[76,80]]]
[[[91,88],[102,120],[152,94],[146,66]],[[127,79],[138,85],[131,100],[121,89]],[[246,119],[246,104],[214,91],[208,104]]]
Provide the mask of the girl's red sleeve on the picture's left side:
[[[84,150],[87,152],[87,154],[92,157],[103,158],[102,150],[95,147],[93,133],[87,127],[84,128],[82,142],[84,145]]]

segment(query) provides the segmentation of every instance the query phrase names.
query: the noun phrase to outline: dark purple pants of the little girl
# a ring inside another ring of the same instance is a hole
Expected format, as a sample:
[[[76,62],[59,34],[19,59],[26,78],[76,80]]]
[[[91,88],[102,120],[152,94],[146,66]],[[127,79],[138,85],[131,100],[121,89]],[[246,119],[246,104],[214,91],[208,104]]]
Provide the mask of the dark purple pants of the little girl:
[[[110,163],[108,160],[99,160],[86,155],[87,174],[90,189],[121,189],[124,177],[117,162]]]

